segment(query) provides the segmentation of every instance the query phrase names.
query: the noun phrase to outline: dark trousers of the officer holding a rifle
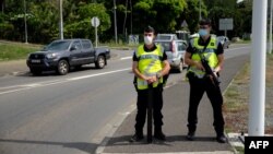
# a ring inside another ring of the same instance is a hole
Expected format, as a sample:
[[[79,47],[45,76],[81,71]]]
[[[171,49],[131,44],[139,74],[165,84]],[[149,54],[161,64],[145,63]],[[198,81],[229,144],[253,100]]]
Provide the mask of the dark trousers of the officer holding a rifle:
[[[192,73],[189,73],[188,78],[190,83],[190,102],[188,110],[189,131],[193,132],[197,129],[198,106],[205,92],[213,107],[214,129],[217,135],[223,134],[225,122],[222,114],[223,96],[221,88],[213,85],[210,78],[198,79]]]

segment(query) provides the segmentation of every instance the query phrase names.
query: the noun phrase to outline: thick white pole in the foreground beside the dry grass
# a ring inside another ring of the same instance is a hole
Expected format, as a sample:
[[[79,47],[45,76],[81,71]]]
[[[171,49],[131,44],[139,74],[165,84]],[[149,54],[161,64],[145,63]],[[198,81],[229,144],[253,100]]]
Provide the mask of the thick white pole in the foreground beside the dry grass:
[[[264,135],[268,0],[253,0],[249,135]]]

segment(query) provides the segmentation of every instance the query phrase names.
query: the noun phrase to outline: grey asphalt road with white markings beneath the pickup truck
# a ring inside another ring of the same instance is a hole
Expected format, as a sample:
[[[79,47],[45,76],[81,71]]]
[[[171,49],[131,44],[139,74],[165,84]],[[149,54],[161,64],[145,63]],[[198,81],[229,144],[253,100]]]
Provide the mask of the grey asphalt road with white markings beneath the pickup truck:
[[[225,58],[249,50],[249,45],[237,45]],[[102,129],[135,104],[132,51],[115,52],[118,57],[103,70],[86,66],[64,76],[47,72],[0,78],[0,153],[94,153]],[[171,73],[168,85],[183,76]]]

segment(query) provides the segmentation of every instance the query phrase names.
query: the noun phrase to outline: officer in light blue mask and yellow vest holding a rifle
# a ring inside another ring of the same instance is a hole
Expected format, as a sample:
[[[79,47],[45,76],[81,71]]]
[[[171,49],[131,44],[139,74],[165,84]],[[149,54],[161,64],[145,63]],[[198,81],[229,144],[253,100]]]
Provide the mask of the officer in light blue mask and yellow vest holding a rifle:
[[[224,62],[224,49],[222,44],[217,42],[216,36],[210,34],[211,21],[209,19],[201,20],[199,24],[200,37],[190,40],[185,55],[185,61],[189,66],[187,78],[190,83],[187,139],[194,140],[198,123],[198,106],[204,92],[206,92],[213,107],[213,126],[216,131],[216,140],[219,143],[226,143],[224,134],[225,122],[222,114],[223,96],[219,86],[215,86],[211,76],[205,74],[200,58],[203,55],[209,61],[209,66],[218,75]],[[204,47],[206,47],[205,50]]]

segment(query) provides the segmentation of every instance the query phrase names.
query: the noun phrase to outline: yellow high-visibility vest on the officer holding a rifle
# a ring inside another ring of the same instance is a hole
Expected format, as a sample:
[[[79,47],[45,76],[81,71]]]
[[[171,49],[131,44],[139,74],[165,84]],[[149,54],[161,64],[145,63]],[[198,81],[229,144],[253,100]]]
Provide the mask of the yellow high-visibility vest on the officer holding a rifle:
[[[197,49],[197,52],[192,54],[191,59],[197,61],[197,62],[201,62],[201,58],[200,55],[203,55],[205,57],[205,59],[209,61],[209,66],[212,69],[215,69],[215,67],[218,63],[218,58],[217,55],[215,54],[216,49],[217,49],[217,39],[215,35],[211,35],[211,40],[209,43],[209,45],[206,46],[206,49],[203,51],[204,46],[200,46],[198,44],[199,42],[199,37],[194,38],[191,42],[191,46]],[[195,66],[191,66],[188,70],[189,72],[193,72],[195,74],[195,76],[198,76],[199,79],[202,79],[205,75],[205,71],[199,70]]]

